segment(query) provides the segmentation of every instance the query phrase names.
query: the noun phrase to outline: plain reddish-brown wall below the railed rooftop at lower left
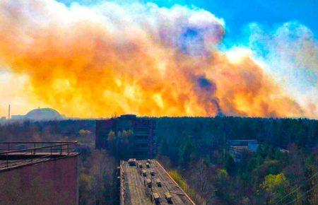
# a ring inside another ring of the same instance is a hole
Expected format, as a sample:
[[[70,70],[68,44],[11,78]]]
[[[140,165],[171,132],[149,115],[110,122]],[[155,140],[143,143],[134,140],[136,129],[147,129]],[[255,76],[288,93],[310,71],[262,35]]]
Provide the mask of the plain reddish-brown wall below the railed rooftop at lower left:
[[[0,204],[78,204],[78,156],[0,171]]]

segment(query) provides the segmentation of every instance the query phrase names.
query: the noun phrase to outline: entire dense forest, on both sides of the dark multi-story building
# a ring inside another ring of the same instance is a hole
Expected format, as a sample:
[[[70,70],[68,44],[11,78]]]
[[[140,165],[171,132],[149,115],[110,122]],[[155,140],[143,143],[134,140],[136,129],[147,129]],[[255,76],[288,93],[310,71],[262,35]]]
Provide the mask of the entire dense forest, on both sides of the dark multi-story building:
[[[157,158],[197,204],[317,204],[317,120],[155,120]],[[80,204],[118,204],[119,158],[95,150],[94,131],[94,120],[10,123],[0,126],[0,141],[78,140]],[[229,139],[257,139],[260,146],[235,162]]]

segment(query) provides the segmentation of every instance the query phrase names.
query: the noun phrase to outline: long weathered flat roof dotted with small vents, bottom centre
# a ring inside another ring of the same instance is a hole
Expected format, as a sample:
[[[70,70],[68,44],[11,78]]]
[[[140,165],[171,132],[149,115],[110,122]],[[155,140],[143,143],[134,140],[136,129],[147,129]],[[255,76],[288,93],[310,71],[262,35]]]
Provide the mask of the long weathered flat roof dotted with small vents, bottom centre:
[[[169,204],[165,192],[170,192],[173,204],[194,204],[157,160],[151,160],[150,168],[146,168],[147,160],[136,160],[136,163],[141,163],[143,168],[131,166],[127,161],[120,163],[121,204],[154,204],[151,201],[153,193],[159,194],[160,204]],[[146,170],[146,177],[141,175],[141,170]],[[154,170],[154,175],[151,175],[151,170]],[[144,185],[146,179],[152,180],[151,188]],[[157,185],[157,179],[160,179],[161,186]]]

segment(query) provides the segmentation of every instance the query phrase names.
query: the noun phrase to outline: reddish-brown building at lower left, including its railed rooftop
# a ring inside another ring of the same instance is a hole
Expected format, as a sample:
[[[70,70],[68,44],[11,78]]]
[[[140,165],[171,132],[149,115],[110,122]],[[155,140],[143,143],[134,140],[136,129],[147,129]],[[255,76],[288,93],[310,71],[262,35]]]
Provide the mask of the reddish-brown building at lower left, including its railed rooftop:
[[[77,143],[0,142],[0,201],[78,204]]]

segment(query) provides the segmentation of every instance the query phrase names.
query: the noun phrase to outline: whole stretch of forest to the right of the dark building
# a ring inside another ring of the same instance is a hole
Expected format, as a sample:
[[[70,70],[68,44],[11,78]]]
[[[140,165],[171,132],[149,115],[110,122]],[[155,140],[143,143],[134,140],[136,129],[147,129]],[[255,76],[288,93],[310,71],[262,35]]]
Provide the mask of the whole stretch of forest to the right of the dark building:
[[[317,204],[317,131],[311,119],[163,117],[158,158],[197,204]],[[229,139],[261,145],[235,163]]]

